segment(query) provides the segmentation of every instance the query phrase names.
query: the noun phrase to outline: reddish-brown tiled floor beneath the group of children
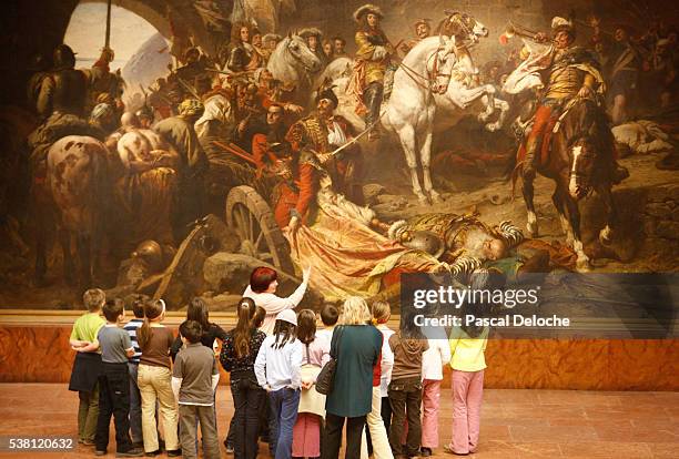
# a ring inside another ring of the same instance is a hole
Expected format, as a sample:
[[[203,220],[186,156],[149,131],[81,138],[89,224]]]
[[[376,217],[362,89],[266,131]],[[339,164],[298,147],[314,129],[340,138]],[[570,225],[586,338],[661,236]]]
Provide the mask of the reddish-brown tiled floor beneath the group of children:
[[[443,445],[450,437],[449,388],[443,390],[440,400],[438,434]],[[0,384],[0,438],[75,437],[78,395],[69,392],[65,385]],[[229,388],[220,386],[221,439],[232,412]],[[109,450],[113,451],[113,446]],[[94,457],[94,451],[79,446],[61,453],[0,452],[0,458],[6,457],[75,459]],[[454,456],[439,448],[434,457]],[[489,389],[484,394],[480,445],[470,457],[679,458],[679,392]]]

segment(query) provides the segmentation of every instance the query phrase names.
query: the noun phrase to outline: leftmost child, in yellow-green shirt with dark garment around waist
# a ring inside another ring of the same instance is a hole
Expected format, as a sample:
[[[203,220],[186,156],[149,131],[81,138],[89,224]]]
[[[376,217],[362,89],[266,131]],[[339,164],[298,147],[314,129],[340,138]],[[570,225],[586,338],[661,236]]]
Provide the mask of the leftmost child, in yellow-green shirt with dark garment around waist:
[[[101,308],[107,297],[99,288],[84,293],[82,303],[88,313],[80,316],[73,324],[70,344],[77,350],[69,390],[77,390],[80,405],[78,407],[78,442],[93,446],[99,417],[99,384],[97,378],[101,370],[101,355],[97,334],[107,322],[101,318]]]

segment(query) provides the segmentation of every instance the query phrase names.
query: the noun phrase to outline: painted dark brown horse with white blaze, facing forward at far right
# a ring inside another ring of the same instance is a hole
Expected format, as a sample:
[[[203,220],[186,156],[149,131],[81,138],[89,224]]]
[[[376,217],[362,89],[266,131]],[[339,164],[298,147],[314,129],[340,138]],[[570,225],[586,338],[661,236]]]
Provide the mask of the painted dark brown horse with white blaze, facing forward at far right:
[[[609,244],[617,220],[611,193],[616,170],[614,139],[604,111],[595,102],[585,99],[577,100],[566,109],[557,129],[551,134],[549,145],[545,146],[547,150],[541,149],[544,154],[538,153],[537,171],[556,183],[551,201],[559,213],[567,243],[578,256],[578,271],[587,271],[590,264],[582,249],[578,202],[592,192],[601,197],[608,211],[608,220],[599,233],[599,239],[602,244]],[[515,180],[523,152],[524,149],[520,149]],[[528,211],[526,226],[530,236],[537,237],[533,180],[523,180],[523,194]]]

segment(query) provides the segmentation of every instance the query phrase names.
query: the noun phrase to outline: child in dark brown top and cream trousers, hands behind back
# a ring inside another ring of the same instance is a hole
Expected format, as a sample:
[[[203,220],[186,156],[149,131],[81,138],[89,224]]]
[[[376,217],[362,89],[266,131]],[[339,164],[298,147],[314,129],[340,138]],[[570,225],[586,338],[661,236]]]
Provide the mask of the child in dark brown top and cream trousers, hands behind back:
[[[165,302],[154,299],[144,305],[144,325],[138,334],[142,356],[139,361],[139,391],[142,396],[142,432],[144,451],[149,456],[160,453],[155,424],[155,401],[163,418],[168,456],[181,456],[176,436],[176,400],[172,394],[170,371],[170,347],[174,336],[170,328],[161,325],[165,318]]]

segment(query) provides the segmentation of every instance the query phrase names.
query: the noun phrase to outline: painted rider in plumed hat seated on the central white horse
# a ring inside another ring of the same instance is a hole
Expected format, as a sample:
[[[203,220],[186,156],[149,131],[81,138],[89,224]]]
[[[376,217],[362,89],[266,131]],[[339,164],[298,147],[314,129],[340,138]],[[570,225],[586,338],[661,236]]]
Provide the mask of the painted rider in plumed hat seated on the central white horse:
[[[365,123],[373,128],[368,134],[369,140],[379,136],[375,124],[379,118],[379,106],[385,89],[391,88],[385,74],[391,57],[395,52],[379,27],[382,18],[384,18],[382,10],[371,3],[364,4],[354,12],[354,20],[359,24],[359,30],[355,35],[358,50],[351,81],[352,88],[347,89],[347,92],[362,96],[365,108],[359,108],[359,111],[366,111]]]

